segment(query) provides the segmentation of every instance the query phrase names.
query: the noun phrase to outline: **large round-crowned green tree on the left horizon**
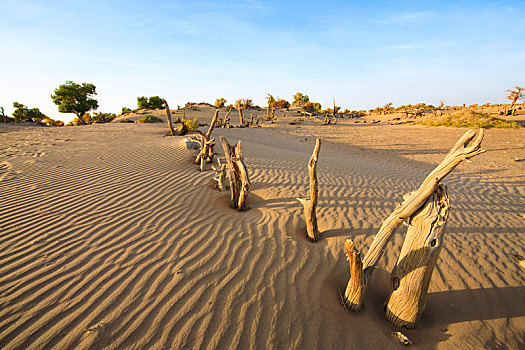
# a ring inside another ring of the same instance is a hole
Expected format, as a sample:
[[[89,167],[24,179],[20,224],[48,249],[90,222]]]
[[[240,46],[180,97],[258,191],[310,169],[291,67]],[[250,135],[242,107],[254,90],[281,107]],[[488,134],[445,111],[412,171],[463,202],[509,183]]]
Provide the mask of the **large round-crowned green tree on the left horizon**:
[[[74,83],[70,80],[65,84],[59,85],[51,99],[58,106],[60,113],[75,113],[80,124],[86,124],[82,117],[92,109],[98,108],[98,102],[93,95],[96,95],[96,87],[93,84]]]

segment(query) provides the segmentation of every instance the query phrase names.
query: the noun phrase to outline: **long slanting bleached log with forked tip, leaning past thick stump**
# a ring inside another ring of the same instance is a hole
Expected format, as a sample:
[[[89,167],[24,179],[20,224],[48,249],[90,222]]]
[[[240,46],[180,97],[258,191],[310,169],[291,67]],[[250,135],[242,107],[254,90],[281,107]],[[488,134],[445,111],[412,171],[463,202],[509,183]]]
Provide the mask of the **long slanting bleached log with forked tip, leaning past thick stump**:
[[[350,277],[346,291],[345,291],[345,303],[350,310],[358,311],[363,304],[366,287],[368,280],[372,274],[374,266],[377,264],[381,255],[383,254],[384,248],[392,234],[397,228],[405,221],[407,221],[422,205],[426,202],[428,197],[436,190],[437,186],[452,170],[454,170],[461,162],[466,161],[478,154],[485,152],[481,150],[481,141],[483,140],[483,129],[479,130],[479,134],[472,143],[469,144],[476,136],[474,130],[467,131],[459,140],[456,142],[454,147],[445,156],[445,159],[426,177],[421,186],[414,192],[411,192],[407,198],[394,209],[392,214],[383,222],[379,232],[375,235],[370,248],[359,265],[362,273],[358,276]],[[348,240],[347,240],[348,241]],[[359,257],[359,253],[348,255],[350,265],[353,264],[352,259]],[[360,260],[360,259],[359,259]],[[356,278],[361,278],[362,281],[354,282]],[[356,286],[360,286],[356,288]]]

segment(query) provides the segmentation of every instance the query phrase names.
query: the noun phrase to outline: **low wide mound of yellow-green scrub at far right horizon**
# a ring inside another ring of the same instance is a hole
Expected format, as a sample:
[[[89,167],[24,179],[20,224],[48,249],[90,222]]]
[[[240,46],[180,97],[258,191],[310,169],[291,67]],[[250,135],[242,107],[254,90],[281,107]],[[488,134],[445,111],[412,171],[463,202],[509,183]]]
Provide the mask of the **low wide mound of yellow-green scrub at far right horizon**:
[[[452,126],[456,128],[521,128],[516,122],[492,117],[486,113],[462,110],[437,118],[417,122],[427,126]]]

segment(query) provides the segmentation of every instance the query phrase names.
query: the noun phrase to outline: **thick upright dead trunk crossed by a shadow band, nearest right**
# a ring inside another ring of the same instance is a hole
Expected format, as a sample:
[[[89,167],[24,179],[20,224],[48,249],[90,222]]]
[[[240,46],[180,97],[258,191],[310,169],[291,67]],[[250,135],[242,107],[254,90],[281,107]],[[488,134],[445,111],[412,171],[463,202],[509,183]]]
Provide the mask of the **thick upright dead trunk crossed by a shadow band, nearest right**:
[[[390,275],[386,319],[414,328],[425,311],[428,286],[443,247],[450,204],[446,187],[439,185],[410,218],[397,264]]]

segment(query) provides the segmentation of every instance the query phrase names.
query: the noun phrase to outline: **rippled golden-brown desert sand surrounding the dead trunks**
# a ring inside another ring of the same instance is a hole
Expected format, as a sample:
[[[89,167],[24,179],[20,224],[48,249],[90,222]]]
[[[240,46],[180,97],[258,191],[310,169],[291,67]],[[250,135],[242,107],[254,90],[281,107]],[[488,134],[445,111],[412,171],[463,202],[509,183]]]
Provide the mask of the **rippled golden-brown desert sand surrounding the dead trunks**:
[[[0,348],[403,347],[383,302],[405,229],[359,313],[340,303],[343,242],[365,253],[466,130],[293,119],[213,132],[242,140],[247,212],[164,124],[1,125]],[[452,209],[427,309],[401,329],[412,348],[525,347],[525,270],[511,259],[525,255],[525,162],[513,161],[524,130],[487,130],[489,152],[445,179]],[[323,238],[310,243],[295,198],[315,136]]]

